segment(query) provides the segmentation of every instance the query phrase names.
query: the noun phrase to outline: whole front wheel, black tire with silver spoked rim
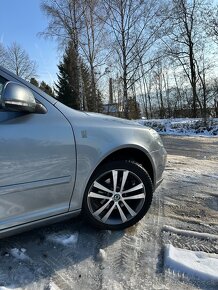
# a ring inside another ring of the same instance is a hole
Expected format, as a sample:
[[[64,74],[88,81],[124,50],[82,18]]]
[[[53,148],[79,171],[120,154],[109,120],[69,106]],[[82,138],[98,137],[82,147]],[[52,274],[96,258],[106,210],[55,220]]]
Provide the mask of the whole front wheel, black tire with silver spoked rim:
[[[94,172],[86,187],[83,214],[93,226],[121,230],[147,213],[153,184],[147,171],[134,161],[111,161]]]

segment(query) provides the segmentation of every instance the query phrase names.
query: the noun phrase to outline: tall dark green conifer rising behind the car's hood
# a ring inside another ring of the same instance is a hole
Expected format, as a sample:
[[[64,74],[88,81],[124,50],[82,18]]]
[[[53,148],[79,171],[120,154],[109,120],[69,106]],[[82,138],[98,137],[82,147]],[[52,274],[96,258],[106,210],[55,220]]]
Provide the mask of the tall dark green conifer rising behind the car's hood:
[[[73,45],[68,45],[58,69],[55,92],[60,102],[78,110],[102,111],[101,94],[96,88],[93,92],[90,70],[82,58],[78,59]]]

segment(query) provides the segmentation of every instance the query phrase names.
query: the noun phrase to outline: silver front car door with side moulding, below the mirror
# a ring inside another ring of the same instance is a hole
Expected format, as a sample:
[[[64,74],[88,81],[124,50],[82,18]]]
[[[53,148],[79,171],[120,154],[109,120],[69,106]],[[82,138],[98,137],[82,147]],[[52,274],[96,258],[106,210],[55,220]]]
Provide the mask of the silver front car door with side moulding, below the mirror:
[[[6,81],[0,76],[0,94]],[[46,114],[0,108],[0,230],[69,208],[76,170],[73,131],[58,109],[33,93]]]

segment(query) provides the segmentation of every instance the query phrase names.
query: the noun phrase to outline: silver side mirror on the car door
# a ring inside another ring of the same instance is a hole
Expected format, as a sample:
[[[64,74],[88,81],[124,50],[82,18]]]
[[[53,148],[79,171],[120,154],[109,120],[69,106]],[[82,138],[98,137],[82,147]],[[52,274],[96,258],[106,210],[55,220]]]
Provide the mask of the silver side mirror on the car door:
[[[3,109],[16,112],[34,113],[38,107],[31,90],[11,81],[5,84],[0,103]]]

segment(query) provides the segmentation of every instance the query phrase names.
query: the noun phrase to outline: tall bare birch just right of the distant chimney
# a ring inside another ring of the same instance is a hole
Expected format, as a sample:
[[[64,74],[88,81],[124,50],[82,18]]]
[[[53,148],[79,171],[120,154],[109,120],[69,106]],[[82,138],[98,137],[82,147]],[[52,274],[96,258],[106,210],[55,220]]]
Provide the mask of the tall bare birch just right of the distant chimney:
[[[128,118],[128,93],[138,79],[141,60],[159,38],[161,6],[157,0],[104,0],[106,23],[112,36],[113,57],[123,81],[124,115]],[[158,18],[159,17],[159,18]],[[157,18],[159,20],[157,20]],[[150,61],[150,60],[149,60]]]

